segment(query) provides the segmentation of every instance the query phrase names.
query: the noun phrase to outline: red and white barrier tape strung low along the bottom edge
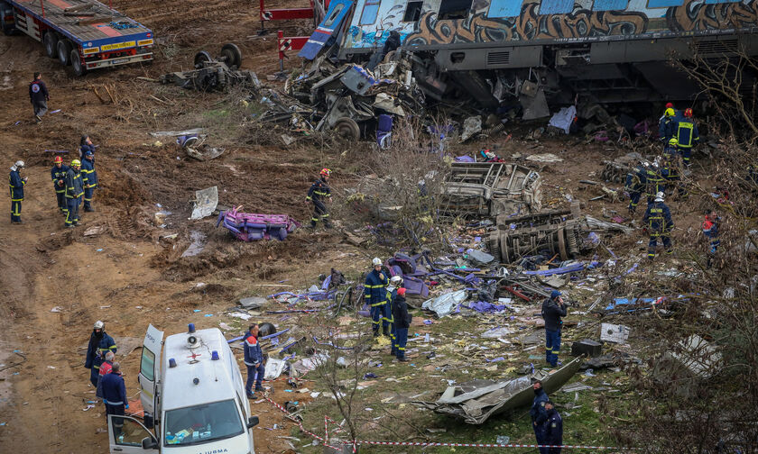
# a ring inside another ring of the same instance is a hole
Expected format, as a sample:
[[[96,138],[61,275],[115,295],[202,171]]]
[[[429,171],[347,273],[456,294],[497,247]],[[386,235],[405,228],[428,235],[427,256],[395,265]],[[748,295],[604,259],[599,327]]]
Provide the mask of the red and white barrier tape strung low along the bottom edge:
[[[277,404],[273,402],[273,400],[269,399],[265,395],[263,396],[265,400],[267,400],[270,404],[275,406],[276,408],[282,410],[283,413],[290,414],[287,412],[287,410],[282,407],[282,405]],[[311,431],[307,431],[303,426],[302,422],[298,422],[298,425],[300,426],[300,431],[303,431],[313,437],[316,440],[321,441],[321,443],[324,446],[327,446],[328,448],[335,449],[337,451],[341,451],[341,449],[329,445],[329,430],[328,430],[328,424],[331,422],[332,424],[337,426],[337,429],[332,430],[332,433],[337,431],[345,431],[345,428],[339,425],[336,421],[329,418],[328,416],[324,415],[324,437],[319,437],[319,435],[316,435],[315,433]],[[359,445],[379,445],[379,446],[418,446],[423,448],[433,448],[433,447],[449,447],[449,448],[560,448],[560,449],[598,449],[598,450],[620,450],[620,451],[630,451],[630,450],[640,450],[640,448],[622,448],[617,446],[589,446],[589,445],[530,445],[530,444],[495,444],[495,443],[445,443],[445,442],[422,442],[422,441],[371,441],[371,440],[353,440],[352,442],[346,442],[344,443],[346,445],[352,445],[353,446],[353,452],[357,451],[357,446]]]

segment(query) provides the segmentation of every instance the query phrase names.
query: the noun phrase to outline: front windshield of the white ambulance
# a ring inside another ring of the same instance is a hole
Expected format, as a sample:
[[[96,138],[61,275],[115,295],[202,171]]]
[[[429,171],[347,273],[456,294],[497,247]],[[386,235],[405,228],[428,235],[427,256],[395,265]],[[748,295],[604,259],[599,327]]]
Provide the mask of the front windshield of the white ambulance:
[[[169,410],[164,421],[166,447],[208,443],[245,431],[234,400]]]

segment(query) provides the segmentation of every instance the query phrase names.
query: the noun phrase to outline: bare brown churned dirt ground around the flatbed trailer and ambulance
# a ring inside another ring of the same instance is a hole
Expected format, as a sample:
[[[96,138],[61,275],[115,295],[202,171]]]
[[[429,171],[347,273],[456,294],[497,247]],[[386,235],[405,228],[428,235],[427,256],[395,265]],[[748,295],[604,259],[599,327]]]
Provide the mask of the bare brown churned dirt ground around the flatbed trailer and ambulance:
[[[96,320],[106,322],[106,331],[116,341],[142,339],[148,323],[167,333],[184,331],[188,322],[199,328],[217,326],[217,318],[193,310],[221,313],[240,296],[310,285],[331,267],[363,268],[370,257],[371,251],[357,250],[337,233],[296,232],[283,242],[242,244],[217,229],[214,219],[188,221],[194,191],[208,186],[218,186],[221,204],[307,220],[310,213],[303,199],[314,171],[339,158],[312,150],[225,143],[224,156],[200,163],[178,156],[171,144],[154,147],[155,139],[147,132],[195,127],[201,114],[213,111],[224,97],[191,94],[135,77],[189,68],[197,50],[213,52],[232,41],[243,50],[243,66],[264,79],[278,67],[275,35],[256,33],[260,26],[256,3],[121,0],[114,6],[153,29],[161,44],[153,65],[73,78],[30,38],[0,38],[0,59],[8,62],[0,86],[4,99],[0,165],[7,169],[16,159],[24,159],[29,177],[23,201],[25,223],[0,222],[0,450],[4,452],[19,448],[106,452],[102,407],[83,411],[93,400],[94,389],[83,368],[82,348]],[[308,24],[302,21],[283,30],[305,34]],[[51,91],[51,110],[61,109],[45,116],[42,125],[32,122],[27,97],[35,70],[42,71]],[[117,102],[104,104],[93,87],[101,95],[100,87],[108,87]],[[166,103],[154,101],[151,94],[162,96]],[[63,228],[55,208],[49,150],[69,150],[65,155],[69,160],[82,132],[99,145],[101,186],[94,203],[97,213],[85,213],[84,226],[70,231]],[[578,190],[578,180],[599,174],[602,159],[625,152],[572,143],[547,141],[541,149],[529,150],[553,152],[564,159],[543,168],[546,183],[552,185],[546,187],[546,198],[562,196],[561,186],[586,200],[589,196]],[[524,146],[525,142],[514,140],[501,150],[508,154],[523,151]],[[624,204],[618,203],[589,203],[585,208],[602,213],[605,206],[625,212]],[[160,210],[171,212],[163,229],[152,221],[153,213]],[[697,229],[697,222],[696,214],[688,215],[678,223],[680,234]],[[92,226],[105,230],[85,236]],[[198,256],[181,258],[191,232],[207,235],[207,244]],[[159,239],[169,233],[179,233],[178,240]],[[280,284],[284,279],[289,281]],[[202,291],[197,290],[200,282],[207,285]],[[263,317],[263,321],[275,320]],[[118,359],[125,366],[127,394],[135,398],[139,350],[119,350]],[[20,364],[7,367],[15,363]],[[279,391],[274,396],[282,403],[287,395]],[[290,435],[291,423],[267,403],[253,406],[261,415],[256,450],[288,449],[286,440],[277,437]],[[263,429],[273,424],[283,429]]]

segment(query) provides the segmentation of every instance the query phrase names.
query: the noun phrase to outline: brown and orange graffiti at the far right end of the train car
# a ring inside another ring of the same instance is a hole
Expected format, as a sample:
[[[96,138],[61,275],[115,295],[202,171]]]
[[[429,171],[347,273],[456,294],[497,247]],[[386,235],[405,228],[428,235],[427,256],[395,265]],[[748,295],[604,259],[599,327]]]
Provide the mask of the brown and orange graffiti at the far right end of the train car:
[[[758,0],[709,5],[690,0],[686,5],[669,8],[666,21],[674,32],[755,27],[758,26]]]

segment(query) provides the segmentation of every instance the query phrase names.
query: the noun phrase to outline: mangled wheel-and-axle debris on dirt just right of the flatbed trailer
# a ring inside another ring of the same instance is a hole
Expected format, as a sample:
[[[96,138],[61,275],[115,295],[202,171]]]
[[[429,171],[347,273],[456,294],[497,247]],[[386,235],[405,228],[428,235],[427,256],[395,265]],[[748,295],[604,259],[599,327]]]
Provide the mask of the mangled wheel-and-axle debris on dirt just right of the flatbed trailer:
[[[195,54],[195,69],[164,74],[162,84],[173,84],[200,91],[226,90],[229,86],[245,86],[256,89],[261,86],[253,71],[239,69],[242,52],[232,43],[224,44],[219,56],[214,59],[206,50]]]

